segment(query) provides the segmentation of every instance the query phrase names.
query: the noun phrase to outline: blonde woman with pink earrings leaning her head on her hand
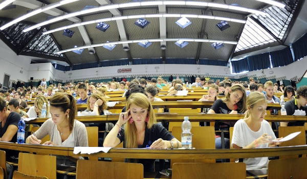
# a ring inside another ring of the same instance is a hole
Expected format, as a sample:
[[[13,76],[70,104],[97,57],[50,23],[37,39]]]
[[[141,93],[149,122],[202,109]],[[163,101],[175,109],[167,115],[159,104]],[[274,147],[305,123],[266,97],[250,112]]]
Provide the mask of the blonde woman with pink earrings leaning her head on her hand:
[[[181,142],[157,123],[146,95],[131,94],[126,106],[127,111],[119,115],[116,125],[105,137],[104,147],[115,147],[122,141],[124,141],[125,148],[170,149],[181,147]],[[128,161],[143,164],[144,171],[155,171],[154,159],[130,159]]]

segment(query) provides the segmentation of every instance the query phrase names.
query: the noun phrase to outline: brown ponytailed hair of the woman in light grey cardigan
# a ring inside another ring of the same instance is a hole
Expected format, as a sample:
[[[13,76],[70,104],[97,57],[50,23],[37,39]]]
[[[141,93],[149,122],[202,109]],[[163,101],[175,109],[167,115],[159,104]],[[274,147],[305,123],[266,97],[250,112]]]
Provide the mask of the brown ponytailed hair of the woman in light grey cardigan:
[[[70,109],[68,123],[70,132],[73,131],[75,117],[77,114],[77,106],[75,98],[70,94],[55,93],[50,98],[50,106],[60,108],[64,113]]]

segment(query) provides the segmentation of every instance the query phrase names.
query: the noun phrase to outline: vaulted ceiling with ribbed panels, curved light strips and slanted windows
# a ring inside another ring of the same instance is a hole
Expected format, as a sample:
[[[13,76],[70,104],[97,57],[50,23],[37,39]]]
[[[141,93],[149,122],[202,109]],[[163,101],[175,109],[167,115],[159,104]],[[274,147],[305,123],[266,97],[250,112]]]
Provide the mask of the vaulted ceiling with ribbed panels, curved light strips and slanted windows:
[[[65,1],[14,1],[11,5],[0,10],[0,29],[18,17],[25,14],[29,15],[37,9],[44,9],[59,2]],[[144,2],[148,4],[142,6],[141,3]],[[212,4],[208,6],[198,4],[202,2]],[[279,2],[286,7],[280,8],[256,0],[135,0],[133,2],[128,0],[75,0],[72,3],[40,12],[1,29],[0,38],[16,54],[35,57],[33,58],[35,62],[45,62],[45,59],[52,59],[74,65],[99,63],[104,60],[129,59],[132,61],[133,59],[155,58],[163,60],[167,58],[189,58],[195,59],[195,61],[210,59],[227,62],[232,58],[240,58],[244,54],[256,50],[268,47],[279,47],[280,49],[289,46],[289,42],[286,40],[304,0],[282,0]],[[127,5],[127,3],[130,4]],[[119,6],[111,7],[112,5]],[[85,13],[82,11],[84,8],[91,11],[91,8],[93,10],[99,7],[101,7],[101,10],[95,12]],[[242,7],[262,11],[266,14],[242,11]],[[83,13],[72,14],[78,11]],[[56,21],[57,17],[69,14],[71,14],[71,17]],[[131,15],[135,16],[131,17]],[[160,15],[160,17],[152,17],[155,15]],[[192,24],[184,29],[179,27],[176,24],[176,21],[181,18],[179,16],[187,16]],[[113,17],[118,18],[112,19]],[[144,17],[150,24],[143,29],[136,26],[134,23],[139,17]],[[106,18],[111,19],[106,20]],[[54,22],[45,23],[46,25],[24,32],[27,28],[48,19],[53,19]],[[96,28],[99,19],[104,19],[104,22],[109,25],[105,32]],[[224,19],[228,22],[230,28],[221,31],[216,24]],[[91,20],[97,20],[97,22],[87,23]],[[246,23],[242,23],[242,20]],[[74,31],[71,38],[64,36],[63,30],[49,33],[50,30],[80,23],[86,25],[69,28]],[[152,44],[145,49],[134,41],[142,39],[151,40]],[[174,44],[178,39],[188,41],[189,44],[180,48]],[[116,47],[109,51],[102,47],[106,41],[119,44],[116,44]],[[211,46],[212,42],[215,41],[222,42],[224,47],[215,50]],[[238,44],[234,44],[234,42],[238,42]],[[161,49],[162,45],[166,46],[165,50]],[[82,48],[85,46],[86,48],[79,55],[69,50],[75,46]],[[124,47],[128,47],[129,50],[124,51]],[[69,51],[65,52],[65,50]],[[89,51],[94,51],[95,54],[89,54]]]

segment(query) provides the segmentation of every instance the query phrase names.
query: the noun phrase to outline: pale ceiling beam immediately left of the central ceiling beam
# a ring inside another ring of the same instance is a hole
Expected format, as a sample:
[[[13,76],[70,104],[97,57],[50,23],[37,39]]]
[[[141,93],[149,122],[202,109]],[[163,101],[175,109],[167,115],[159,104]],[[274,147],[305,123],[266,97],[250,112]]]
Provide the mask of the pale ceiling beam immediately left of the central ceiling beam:
[[[95,1],[102,6],[111,4],[111,2],[109,0],[95,0]],[[110,11],[115,17],[122,16],[121,12],[118,9],[110,9],[108,11]],[[118,32],[119,32],[120,39],[122,41],[128,40],[123,20],[116,20],[116,25],[117,25],[117,29],[118,29]],[[128,43],[123,43],[122,46],[123,46],[123,48],[127,47],[128,49],[130,49]],[[126,51],[126,53],[127,53],[127,58],[129,59],[130,62],[132,62],[130,50]],[[132,63],[130,63],[130,64],[132,64]]]

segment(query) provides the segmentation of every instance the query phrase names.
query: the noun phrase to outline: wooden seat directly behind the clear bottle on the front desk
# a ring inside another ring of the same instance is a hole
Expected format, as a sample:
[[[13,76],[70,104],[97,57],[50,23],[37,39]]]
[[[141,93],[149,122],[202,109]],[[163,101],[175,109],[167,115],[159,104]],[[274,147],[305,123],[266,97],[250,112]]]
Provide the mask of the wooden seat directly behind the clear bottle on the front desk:
[[[172,135],[181,141],[182,129],[180,126],[173,126]],[[196,149],[215,149],[215,132],[213,126],[192,126],[192,147]],[[170,166],[174,163],[195,163],[195,162],[215,162],[214,159],[196,159],[196,160],[183,160],[172,159]]]

